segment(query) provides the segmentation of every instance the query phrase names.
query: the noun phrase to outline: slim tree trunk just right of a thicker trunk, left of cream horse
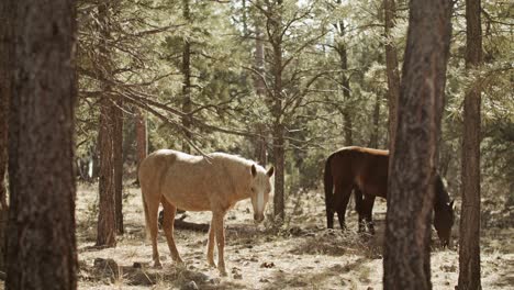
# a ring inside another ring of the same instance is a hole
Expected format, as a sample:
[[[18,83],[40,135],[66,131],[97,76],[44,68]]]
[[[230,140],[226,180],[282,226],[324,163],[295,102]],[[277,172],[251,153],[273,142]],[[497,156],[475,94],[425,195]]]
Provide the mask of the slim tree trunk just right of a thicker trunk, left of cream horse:
[[[123,234],[123,100],[119,98],[114,107],[114,199],[116,215],[116,232]]]

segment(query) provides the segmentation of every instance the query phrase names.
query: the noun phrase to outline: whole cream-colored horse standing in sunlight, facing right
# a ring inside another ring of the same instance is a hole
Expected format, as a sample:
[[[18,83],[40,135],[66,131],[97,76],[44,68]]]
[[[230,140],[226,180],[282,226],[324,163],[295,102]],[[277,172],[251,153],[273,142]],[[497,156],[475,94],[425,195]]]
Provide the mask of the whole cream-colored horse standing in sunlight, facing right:
[[[266,171],[252,160],[223,153],[209,154],[205,158],[161,149],[148,155],[139,166],[138,176],[146,228],[152,238],[154,266],[160,266],[157,250],[157,215],[159,203],[163,203],[163,227],[171,257],[177,263],[182,261],[174,239],[177,208],[187,211],[212,211],[206,258],[209,265],[215,267],[215,236],[217,269],[222,275],[226,275],[223,257],[225,213],[237,201],[250,198],[254,220],[261,222],[271,191],[272,175],[272,167]]]

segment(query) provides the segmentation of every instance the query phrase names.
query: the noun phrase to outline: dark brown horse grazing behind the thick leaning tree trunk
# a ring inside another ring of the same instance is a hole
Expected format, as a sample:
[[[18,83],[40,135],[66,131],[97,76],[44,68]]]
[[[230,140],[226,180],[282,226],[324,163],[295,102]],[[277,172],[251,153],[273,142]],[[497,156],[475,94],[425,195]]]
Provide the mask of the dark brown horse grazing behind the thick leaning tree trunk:
[[[371,213],[376,197],[386,198],[388,191],[389,152],[364,147],[345,147],[328,156],[325,164],[325,204],[328,228],[334,228],[334,213],[345,228],[346,207],[355,191],[355,205],[359,214],[359,232],[366,225],[375,233]],[[454,225],[454,201],[449,201],[439,175],[434,182],[434,227],[444,246],[449,243]]]

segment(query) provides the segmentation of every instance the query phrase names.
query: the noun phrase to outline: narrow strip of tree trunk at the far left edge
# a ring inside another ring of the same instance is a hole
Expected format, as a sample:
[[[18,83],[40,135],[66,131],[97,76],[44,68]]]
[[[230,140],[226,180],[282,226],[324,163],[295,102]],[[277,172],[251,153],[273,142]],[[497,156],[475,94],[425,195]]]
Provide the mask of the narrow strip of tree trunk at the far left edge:
[[[5,263],[5,225],[8,222],[5,172],[8,165],[9,99],[14,71],[14,1],[0,2],[0,270]]]

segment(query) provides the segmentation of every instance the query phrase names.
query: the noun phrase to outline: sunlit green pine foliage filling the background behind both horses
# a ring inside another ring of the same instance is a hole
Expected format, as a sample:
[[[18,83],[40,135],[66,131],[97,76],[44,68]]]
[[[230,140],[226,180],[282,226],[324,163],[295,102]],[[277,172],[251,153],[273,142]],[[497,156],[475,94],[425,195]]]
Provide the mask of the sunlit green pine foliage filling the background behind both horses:
[[[283,94],[302,96],[298,105],[284,109],[287,147],[287,188],[290,193],[315,188],[326,156],[343,146],[343,112],[353,119],[355,145],[368,146],[373,134],[373,110],[378,100],[379,147],[388,143],[386,42],[398,47],[403,59],[406,33],[406,2],[399,1],[395,29],[383,37],[382,1],[283,1],[282,22],[290,23],[284,33]],[[264,123],[268,136],[273,119],[269,98],[258,97],[254,81],[256,24],[262,25],[265,72],[269,89],[273,80],[270,68],[272,47],[267,40],[266,18],[256,1],[190,1],[191,20],[182,15],[182,1],[122,1],[112,7],[110,23],[112,44],[109,58],[114,66],[109,76],[113,96],[126,100],[125,148],[134,148],[133,108],[146,110],[149,150],[168,147],[180,149],[183,142],[181,116],[164,107],[181,110],[181,62],[185,40],[191,44],[192,127],[191,142],[204,152],[225,150],[254,157],[257,123]],[[514,180],[514,41],[512,9],[493,0],[483,3],[484,65],[467,72],[466,20],[457,4],[454,37],[447,72],[446,107],[440,141],[442,172],[454,196],[458,196],[462,100],[473,86],[482,93],[482,176],[488,194],[507,194],[500,186]],[[97,3],[81,0],[79,20],[79,91],[77,103],[77,153],[85,155],[97,144],[98,102],[105,80],[99,78],[102,56],[98,45]],[[301,20],[292,21],[295,18]],[[336,23],[345,24],[342,34]],[[268,25],[269,26],[269,25]],[[340,68],[337,45],[347,47],[348,68]],[[401,65],[400,65],[401,68]],[[340,76],[349,76],[350,98],[345,99]],[[267,96],[269,97],[269,96]],[[139,99],[137,99],[139,98]],[[293,99],[293,98],[291,98]],[[137,100],[137,101],[135,101]],[[152,109],[152,110],[149,110]],[[232,134],[227,134],[232,133]],[[131,153],[126,153],[128,156]],[[272,163],[272,155],[270,156]],[[496,186],[498,185],[498,186]],[[288,192],[287,191],[287,192]]]

